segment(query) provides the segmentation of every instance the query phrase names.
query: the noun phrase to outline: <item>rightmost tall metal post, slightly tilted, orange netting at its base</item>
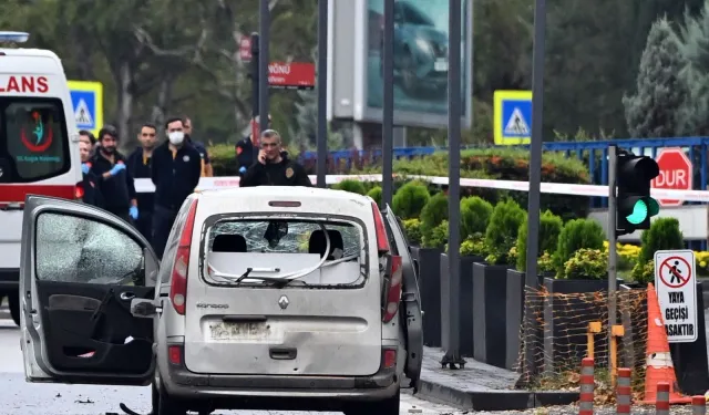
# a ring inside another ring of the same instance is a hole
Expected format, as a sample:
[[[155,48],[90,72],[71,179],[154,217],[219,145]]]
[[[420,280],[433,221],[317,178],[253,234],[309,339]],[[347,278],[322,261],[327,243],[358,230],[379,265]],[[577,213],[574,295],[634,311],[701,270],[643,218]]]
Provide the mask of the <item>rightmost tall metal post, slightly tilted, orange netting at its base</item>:
[[[532,142],[530,145],[530,193],[527,204],[526,289],[537,289],[537,257],[540,251],[540,209],[542,181],[542,142],[544,124],[544,54],[546,49],[546,0],[534,4],[534,51],[532,55]],[[536,372],[537,342],[536,304],[525,301],[524,361],[527,376]],[[527,378],[528,381],[528,378]]]

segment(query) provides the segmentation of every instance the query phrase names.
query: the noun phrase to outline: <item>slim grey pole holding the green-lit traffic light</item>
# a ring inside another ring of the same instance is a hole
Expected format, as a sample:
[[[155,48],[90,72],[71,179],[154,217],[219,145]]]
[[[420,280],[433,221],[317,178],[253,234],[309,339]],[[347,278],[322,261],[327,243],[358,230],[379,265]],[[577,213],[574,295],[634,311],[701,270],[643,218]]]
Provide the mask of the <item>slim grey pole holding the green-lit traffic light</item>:
[[[608,350],[613,344],[613,326],[616,324],[616,278],[617,247],[616,220],[618,205],[616,186],[618,185],[618,147],[608,147]]]

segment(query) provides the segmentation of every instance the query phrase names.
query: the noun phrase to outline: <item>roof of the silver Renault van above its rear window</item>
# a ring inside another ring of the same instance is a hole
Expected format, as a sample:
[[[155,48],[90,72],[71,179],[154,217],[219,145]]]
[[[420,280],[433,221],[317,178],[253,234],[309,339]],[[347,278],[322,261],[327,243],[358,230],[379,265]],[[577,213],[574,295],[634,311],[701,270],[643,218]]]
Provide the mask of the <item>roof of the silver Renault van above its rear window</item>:
[[[278,200],[298,200],[299,198],[317,197],[329,200],[350,200],[366,204],[371,204],[372,200],[369,196],[362,196],[350,191],[300,186],[229,187],[199,193],[201,199],[226,199],[240,197],[269,197]]]

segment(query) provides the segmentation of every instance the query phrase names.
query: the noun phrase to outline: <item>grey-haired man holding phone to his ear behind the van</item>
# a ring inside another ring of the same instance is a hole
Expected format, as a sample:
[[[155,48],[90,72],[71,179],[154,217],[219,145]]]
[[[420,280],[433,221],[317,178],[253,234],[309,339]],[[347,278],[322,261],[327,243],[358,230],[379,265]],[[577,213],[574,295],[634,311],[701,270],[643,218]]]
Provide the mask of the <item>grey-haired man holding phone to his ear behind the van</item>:
[[[275,129],[261,133],[258,159],[242,178],[242,187],[254,186],[306,186],[311,187],[306,169],[288,158],[282,151],[280,134]]]

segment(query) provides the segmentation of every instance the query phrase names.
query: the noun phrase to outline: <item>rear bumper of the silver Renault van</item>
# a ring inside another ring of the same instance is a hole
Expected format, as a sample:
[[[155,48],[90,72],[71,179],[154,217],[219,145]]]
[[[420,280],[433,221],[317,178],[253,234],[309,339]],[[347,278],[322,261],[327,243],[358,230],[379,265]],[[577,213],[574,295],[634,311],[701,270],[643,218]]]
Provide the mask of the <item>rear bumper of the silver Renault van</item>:
[[[172,366],[172,365],[171,365]],[[205,375],[169,367],[165,388],[176,397],[208,400],[228,397],[282,397],[302,400],[381,401],[399,392],[394,370],[372,376],[259,376]]]

